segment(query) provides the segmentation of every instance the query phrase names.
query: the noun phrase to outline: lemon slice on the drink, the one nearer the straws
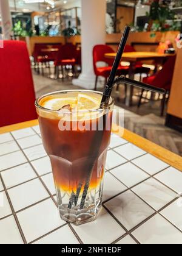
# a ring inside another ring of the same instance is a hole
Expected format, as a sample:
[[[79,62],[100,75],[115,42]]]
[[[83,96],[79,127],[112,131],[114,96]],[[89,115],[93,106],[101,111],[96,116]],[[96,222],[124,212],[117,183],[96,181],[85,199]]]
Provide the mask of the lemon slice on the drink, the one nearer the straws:
[[[78,110],[96,110],[99,108],[100,102],[101,97],[99,96],[96,98],[96,95],[90,96],[85,93],[78,94]]]

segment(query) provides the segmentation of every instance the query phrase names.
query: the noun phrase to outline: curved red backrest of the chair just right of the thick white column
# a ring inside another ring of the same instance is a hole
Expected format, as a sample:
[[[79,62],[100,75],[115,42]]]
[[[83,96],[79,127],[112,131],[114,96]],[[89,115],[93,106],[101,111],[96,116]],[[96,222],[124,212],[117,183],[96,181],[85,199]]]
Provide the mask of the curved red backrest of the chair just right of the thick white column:
[[[96,69],[97,69],[96,63],[98,63],[98,62],[105,62],[109,66],[113,65],[114,60],[105,57],[105,54],[113,53],[113,52],[115,52],[115,51],[113,51],[113,49],[106,44],[98,44],[98,45],[94,46],[94,48],[93,48],[93,68],[94,68],[95,73],[96,73]]]

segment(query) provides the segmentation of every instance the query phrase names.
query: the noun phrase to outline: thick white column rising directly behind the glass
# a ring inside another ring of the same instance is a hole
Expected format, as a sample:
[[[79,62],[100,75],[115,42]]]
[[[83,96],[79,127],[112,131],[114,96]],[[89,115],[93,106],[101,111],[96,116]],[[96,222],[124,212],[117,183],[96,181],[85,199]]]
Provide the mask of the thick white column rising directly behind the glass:
[[[82,73],[73,85],[92,90],[95,85],[93,46],[106,43],[106,0],[81,0]]]

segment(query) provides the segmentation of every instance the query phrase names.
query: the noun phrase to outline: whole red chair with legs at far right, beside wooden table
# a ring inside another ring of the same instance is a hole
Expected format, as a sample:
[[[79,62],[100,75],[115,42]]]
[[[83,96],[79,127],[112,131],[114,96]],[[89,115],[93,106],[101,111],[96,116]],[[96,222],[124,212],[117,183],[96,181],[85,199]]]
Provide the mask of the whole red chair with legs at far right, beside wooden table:
[[[144,77],[143,82],[146,84],[153,85],[158,88],[163,88],[166,90],[166,94],[170,93],[170,87],[172,84],[172,78],[174,74],[176,57],[170,57],[166,63],[163,65],[163,69],[158,71],[154,76]],[[144,90],[141,92],[140,101],[138,102],[138,107],[141,105],[141,100],[143,99]],[[161,116],[164,115],[164,107],[166,103],[166,94],[164,94],[161,102]]]

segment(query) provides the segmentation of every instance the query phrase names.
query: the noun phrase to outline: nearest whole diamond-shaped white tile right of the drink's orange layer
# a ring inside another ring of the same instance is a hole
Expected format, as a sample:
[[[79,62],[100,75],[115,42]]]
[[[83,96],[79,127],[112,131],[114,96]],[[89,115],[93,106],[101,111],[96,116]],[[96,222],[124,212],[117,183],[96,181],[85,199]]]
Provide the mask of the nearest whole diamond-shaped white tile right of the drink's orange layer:
[[[125,163],[124,165],[112,169],[110,172],[127,187],[132,187],[149,177],[148,174],[141,171],[141,169],[135,165],[132,165],[132,163]]]

